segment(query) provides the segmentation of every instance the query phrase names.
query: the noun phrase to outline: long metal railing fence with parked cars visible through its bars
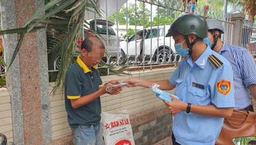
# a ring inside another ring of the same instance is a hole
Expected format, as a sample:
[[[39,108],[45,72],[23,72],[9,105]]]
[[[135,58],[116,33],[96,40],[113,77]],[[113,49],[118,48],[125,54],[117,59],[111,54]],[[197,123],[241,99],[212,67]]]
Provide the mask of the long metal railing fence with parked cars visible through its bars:
[[[172,37],[165,38],[164,36],[170,29],[173,20],[177,19],[181,13],[193,13],[193,11],[189,12],[187,1],[183,3],[182,0],[129,0],[124,4],[123,11],[121,11],[122,15],[118,15],[118,11],[120,11],[118,3],[120,1],[116,0],[116,4],[114,4],[116,5],[116,29],[113,29],[113,24],[109,20],[109,15],[112,13],[108,13],[108,8],[113,6],[113,3],[108,6],[108,0],[106,0],[106,9],[104,10],[106,14],[104,24],[101,23],[102,26],[100,26],[100,23],[97,23],[96,15],[95,20],[90,23],[97,31],[105,30],[104,34],[101,35],[105,35],[102,38],[104,38],[106,51],[109,54],[106,56],[106,63],[116,68],[125,65],[143,66],[143,69],[145,66],[150,66],[152,69],[154,65],[176,65],[179,63],[181,57],[175,51]],[[129,9],[130,5],[134,6],[133,10]],[[221,40],[231,44],[233,24],[230,23],[229,15],[223,15],[222,11],[214,10],[211,6],[209,10],[205,11],[204,7],[204,5],[197,4],[194,13],[205,16],[207,19],[220,20],[225,28]],[[132,19],[131,15],[133,16]],[[125,20],[126,33],[124,34],[126,36],[129,35],[132,20],[134,22],[133,33],[122,42],[120,42],[120,35],[122,34],[119,31],[121,20]],[[142,29],[138,27],[142,27]],[[83,29],[86,28],[83,27]],[[138,34],[142,34],[142,39],[138,38]],[[84,38],[84,33],[81,35]],[[49,72],[58,72],[58,62],[56,59],[54,68]]]

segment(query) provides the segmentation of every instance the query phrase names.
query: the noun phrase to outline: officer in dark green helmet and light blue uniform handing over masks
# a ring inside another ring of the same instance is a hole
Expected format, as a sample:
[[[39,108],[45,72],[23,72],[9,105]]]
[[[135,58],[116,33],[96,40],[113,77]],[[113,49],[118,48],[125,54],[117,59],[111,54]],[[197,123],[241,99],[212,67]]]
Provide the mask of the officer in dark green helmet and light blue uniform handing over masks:
[[[173,116],[174,144],[214,144],[223,119],[232,115],[234,107],[233,73],[230,63],[205,45],[207,23],[199,15],[183,15],[176,19],[166,37],[173,36],[175,49],[181,56],[173,75],[166,80],[127,79],[128,87],[147,87],[156,83],[159,89],[175,89],[172,102],[166,106]]]

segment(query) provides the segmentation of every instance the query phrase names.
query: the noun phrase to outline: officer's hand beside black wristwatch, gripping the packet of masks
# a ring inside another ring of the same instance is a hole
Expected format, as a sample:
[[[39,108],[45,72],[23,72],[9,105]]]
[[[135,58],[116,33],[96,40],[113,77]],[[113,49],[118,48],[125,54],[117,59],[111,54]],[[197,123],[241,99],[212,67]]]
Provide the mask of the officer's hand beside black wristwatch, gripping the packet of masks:
[[[172,98],[172,102],[167,102],[167,101],[163,101],[163,102],[165,103],[166,107],[168,107],[168,109],[170,109],[170,111],[173,113],[173,116],[176,113],[187,111],[188,103],[182,102],[172,95],[169,95],[169,96],[170,98]]]

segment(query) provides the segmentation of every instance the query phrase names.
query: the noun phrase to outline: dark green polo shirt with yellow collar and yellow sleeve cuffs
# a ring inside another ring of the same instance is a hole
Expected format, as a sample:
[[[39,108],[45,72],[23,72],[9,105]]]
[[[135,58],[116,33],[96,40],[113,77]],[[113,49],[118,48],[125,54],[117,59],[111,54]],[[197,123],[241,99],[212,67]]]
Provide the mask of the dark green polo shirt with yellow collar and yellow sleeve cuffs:
[[[68,113],[68,124],[77,128],[78,125],[97,125],[100,123],[100,97],[92,102],[73,109],[70,99],[78,99],[95,93],[102,86],[97,66],[92,71],[84,65],[80,57],[68,68],[65,77],[65,108]]]

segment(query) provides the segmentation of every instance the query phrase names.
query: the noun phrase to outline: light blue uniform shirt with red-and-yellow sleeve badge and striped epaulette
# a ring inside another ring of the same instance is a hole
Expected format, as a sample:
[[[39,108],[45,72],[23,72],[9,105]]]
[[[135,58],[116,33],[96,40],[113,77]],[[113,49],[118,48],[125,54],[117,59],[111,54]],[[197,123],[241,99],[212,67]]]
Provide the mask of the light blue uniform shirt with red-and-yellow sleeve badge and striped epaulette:
[[[222,62],[223,65],[212,65],[208,60],[211,54],[216,56],[214,60],[219,59],[219,63]],[[215,105],[218,108],[234,107],[232,68],[227,59],[210,47],[207,47],[194,64],[191,56],[183,59],[168,80],[176,86],[175,95],[185,103]],[[223,120],[191,112],[179,112],[173,117],[173,134],[179,144],[214,144]]]

